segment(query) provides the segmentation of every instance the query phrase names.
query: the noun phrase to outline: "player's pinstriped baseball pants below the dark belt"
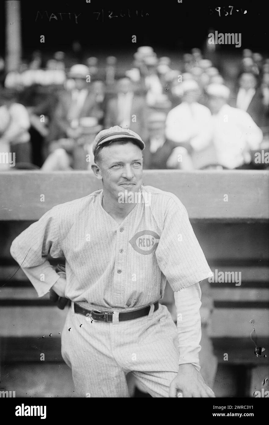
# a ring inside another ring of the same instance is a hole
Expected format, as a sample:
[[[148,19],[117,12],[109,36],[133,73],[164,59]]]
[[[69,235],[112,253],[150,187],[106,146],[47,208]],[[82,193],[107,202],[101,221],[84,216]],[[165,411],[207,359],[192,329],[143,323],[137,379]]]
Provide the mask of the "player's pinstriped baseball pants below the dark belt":
[[[178,334],[167,307],[148,316],[119,322],[92,322],[68,311],[62,331],[62,357],[72,369],[77,397],[130,397],[131,372],[152,397],[168,397],[178,373]]]

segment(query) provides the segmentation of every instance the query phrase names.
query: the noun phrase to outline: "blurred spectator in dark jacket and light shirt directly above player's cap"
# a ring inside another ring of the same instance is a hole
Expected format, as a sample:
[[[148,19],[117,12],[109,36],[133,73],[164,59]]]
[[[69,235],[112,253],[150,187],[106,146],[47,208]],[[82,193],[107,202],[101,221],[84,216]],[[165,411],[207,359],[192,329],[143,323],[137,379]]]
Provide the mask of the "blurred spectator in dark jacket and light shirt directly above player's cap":
[[[116,96],[108,101],[105,128],[119,125],[140,134],[146,134],[146,103],[142,96],[134,93],[129,78],[121,78],[116,84]]]

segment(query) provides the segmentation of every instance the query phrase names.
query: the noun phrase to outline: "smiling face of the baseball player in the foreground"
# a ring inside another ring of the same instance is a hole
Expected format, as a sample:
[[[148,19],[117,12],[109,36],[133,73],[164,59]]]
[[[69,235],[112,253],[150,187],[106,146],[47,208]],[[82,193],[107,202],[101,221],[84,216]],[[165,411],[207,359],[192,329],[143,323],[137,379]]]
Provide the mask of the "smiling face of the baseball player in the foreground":
[[[104,147],[99,163],[104,190],[115,199],[125,190],[138,192],[142,184],[142,161],[142,150],[131,142],[115,142]]]

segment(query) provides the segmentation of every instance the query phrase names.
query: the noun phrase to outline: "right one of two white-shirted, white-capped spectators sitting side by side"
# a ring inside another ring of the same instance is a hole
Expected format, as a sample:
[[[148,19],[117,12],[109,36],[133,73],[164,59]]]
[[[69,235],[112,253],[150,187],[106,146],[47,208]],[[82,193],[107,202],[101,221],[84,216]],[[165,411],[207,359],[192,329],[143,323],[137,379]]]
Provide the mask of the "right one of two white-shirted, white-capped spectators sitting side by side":
[[[250,150],[259,148],[263,139],[261,129],[251,116],[227,104],[229,88],[221,84],[207,87],[209,106],[213,115],[213,142],[217,163],[233,169],[251,161]]]

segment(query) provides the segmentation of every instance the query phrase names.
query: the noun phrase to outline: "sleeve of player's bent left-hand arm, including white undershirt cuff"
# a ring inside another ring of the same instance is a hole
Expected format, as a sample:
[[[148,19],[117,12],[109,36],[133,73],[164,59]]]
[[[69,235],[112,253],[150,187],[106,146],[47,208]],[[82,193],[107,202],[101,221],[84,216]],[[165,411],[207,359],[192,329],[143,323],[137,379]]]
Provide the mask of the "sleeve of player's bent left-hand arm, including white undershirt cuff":
[[[10,253],[33,284],[38,296],[45,295],[59,279],[48,261],[48,254],[53,258],[64,255],[57,207],[20,233],[12,242]]]

